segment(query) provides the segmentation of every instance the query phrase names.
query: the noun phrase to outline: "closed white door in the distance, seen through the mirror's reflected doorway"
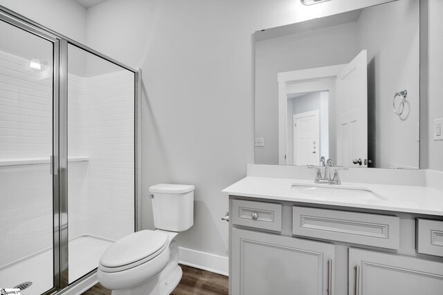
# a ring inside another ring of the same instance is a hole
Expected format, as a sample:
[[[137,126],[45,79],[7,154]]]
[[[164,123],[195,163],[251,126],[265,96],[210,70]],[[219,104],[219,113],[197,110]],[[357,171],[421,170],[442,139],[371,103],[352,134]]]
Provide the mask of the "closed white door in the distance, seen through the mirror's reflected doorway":
[[[293,164],[318,165],[320,162],[320,112],[299,113],[293,118]]]

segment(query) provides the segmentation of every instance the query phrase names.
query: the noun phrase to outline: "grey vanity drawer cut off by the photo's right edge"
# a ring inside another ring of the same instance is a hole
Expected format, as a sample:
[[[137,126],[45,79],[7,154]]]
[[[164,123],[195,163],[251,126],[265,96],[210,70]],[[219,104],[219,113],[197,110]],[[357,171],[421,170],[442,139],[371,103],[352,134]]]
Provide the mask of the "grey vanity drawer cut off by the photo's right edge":
[[[417,251],[443,256],[443,221],[417,218]]]

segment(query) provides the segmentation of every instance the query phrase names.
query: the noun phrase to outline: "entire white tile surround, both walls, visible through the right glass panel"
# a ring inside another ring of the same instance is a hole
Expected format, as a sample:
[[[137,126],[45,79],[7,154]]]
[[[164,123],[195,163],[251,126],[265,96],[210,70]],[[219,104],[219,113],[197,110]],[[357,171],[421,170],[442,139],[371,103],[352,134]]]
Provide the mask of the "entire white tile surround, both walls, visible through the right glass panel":
[[[69,75],[69,238],[134,229],[134,79]],[[75,168],[75,169],[74,169]]]

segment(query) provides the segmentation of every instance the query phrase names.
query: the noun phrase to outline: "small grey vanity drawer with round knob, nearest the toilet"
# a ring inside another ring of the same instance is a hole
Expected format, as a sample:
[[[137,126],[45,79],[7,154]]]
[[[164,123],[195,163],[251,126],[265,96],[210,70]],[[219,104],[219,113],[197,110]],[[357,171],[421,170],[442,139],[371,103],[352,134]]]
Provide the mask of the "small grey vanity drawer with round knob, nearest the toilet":
[[[233,224],[282,231],[282,204],[233,200]]]

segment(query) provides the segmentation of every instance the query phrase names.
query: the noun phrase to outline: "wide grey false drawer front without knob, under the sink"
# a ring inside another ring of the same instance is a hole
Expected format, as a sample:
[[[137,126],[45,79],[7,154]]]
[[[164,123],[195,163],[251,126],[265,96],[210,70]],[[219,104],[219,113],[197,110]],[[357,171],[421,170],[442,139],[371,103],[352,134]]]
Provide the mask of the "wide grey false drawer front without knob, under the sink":
[[[292,234],[399,249],[400,218],[340,210],[292,207]]]

